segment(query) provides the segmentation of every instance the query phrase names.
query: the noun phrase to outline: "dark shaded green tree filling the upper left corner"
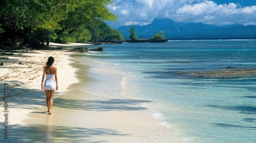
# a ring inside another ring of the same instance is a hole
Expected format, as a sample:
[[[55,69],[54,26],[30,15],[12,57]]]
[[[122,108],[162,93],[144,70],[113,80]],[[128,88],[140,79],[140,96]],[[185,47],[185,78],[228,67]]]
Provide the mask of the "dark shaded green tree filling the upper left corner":
[[[49,43],[49,39],[56,38],[54,30],[60,28],[58,22],[65,19],[66,9],[63,8],[62,1],[3,0],[1,2],[0,22],[1,28],[5,31],[1,40],[9,41],[9,44],[44,41]]]

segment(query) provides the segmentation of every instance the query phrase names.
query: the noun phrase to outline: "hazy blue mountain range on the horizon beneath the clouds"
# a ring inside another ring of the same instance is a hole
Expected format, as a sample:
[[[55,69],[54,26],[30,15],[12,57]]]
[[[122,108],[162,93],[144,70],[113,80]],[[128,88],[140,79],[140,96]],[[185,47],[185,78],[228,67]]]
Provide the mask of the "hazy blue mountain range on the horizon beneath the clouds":
[[[159,31],[164,31],[168,39],[256,39],[256,26],[243,26],[239,23],[218,27],[202,22],[175,22],[172,19],[155,18],[146,26],[121,26],[119,30],[124,39],[129,39],[129,29],[134,26],[138,38],[152,38]]]

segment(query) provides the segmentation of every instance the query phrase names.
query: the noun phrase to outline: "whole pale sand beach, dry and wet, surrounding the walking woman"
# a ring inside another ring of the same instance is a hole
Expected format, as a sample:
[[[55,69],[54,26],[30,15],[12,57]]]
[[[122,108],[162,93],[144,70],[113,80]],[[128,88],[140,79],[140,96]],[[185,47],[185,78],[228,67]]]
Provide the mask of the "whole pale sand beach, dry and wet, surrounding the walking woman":
[[[34,50],[1,56],[6,58],[0,59],[4,63],[0,66],[1,98],[4,85],[8,84],[8,106],[5,110],[2,98],[0,142],[182,142],[172,129],[159,125],[161,121],[143,106],[147,101],[122,96],[106,98],[90,89],[79,89],[81,85],[96,86],[94,81],[99,79],[88,75],[79,81],[70,54]],[[40,89],[42,67],[49,56],[55,58],[59,85],[52,115],[46,112],[45,92]],[[103,77],[98,83],[104,84],[105,80],[110,85],[117,82]]]

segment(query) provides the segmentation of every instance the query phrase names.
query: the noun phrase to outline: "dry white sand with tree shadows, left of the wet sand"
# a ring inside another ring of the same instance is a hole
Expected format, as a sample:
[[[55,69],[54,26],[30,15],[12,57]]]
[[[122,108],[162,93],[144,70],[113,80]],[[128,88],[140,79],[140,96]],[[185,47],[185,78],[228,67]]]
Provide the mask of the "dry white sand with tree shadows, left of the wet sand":
[[[24,51],[24,50],[23,50]],[[24,120],[27,120],[31,112],[37,109],[44,109],[47,111],[45,103],[45,92],[40,89],[42,69],[45,66],[47,58],[53,56],[55,58],[54,65],[58,68],[58,82],[59,90],[55,92],[55,97],[59,94],[66,92],[70,83],[76,83],[78,80],[75,76],[66,78],[69,82],[63,82],[61,77],[65,77],[63,71],[68,71],[69,74],[74,75],[76,69],[66,64],[71,64],[70,57],[65,51],[49,51],[49,50],[29,50],[27,53],[14,53],[13,55],[1,56],[5,59],[0,59],[4,65],[0,66],[1,69],[1,93],[5,89],[8,90],[8,96],[4,98],[1,96],[0,100],[0,125],[1,128],[6,127],[9,130],[16,130],[15,126],[25,126]],[[20,64],[19,64],[20,63]],[[59,70],[66,69],[66,70]],[[5,106],[5,101],[7,105]],[[7,109],[7,111],[5,111]],[[5,119],[4,114],[8,114]],[[43,113],[44,115],[46,114]],[[4,133],[4,131],[3,131]],[[2,139],[6,139],[2,134]],[[15,133],[12,131],[7,135],[11,138]],[[22,136],[18,136],[21,137]],[[16,135],[15,135],[16,138]],[[6,140],[3,140],[6,141]],[[10,139],[9,139],[10,141]],[[11,140],[11,141],[15,141]]]

